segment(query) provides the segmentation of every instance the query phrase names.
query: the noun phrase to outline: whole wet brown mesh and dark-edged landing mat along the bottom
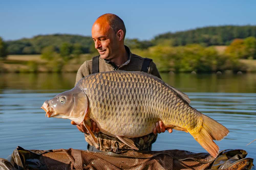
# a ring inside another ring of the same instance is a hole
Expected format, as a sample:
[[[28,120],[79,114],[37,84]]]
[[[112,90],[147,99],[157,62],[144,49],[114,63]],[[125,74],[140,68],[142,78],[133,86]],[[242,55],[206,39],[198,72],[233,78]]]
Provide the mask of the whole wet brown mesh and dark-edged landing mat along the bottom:
[[[25,150],[18,147],[3,169],[255,169],[244,150],[221,151],[215,159],[208,153],[184,150],[89,152],[78,149]],[[0,168],[1,169],[1,168]]]

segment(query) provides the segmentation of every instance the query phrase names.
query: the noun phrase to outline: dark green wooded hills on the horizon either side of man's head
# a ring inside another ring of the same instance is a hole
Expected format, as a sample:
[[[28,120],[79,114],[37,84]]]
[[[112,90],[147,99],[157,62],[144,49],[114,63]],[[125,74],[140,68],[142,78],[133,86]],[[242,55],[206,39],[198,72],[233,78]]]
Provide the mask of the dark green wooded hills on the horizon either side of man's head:
[[[235,38],[256,37],[256,26],[216,26],[203,27],[188,31],[175,33],[164,33],[155,36],[152,40],[140,41],[138,39],[126,39],[125,44],[130,48],[147,49],[155,45],[184,46],[187,44],[230,45]],[[37,35],[33,38],[22,38],[15,41],[4,42],[7,47],[7,54],[41,54],[42,49],[47,46],[54,46],[57,53],[63,43],[80,44],[82,53],[94,51],[93,41],[90,36],[53,34]]]

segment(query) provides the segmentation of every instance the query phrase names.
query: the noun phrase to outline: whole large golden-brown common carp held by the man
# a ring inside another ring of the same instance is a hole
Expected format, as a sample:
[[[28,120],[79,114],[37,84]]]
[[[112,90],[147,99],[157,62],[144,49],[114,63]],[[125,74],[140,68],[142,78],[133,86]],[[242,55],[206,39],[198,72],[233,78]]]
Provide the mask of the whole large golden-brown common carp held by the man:
[[[155,123],[189,132],[212,156],[229,130],[189,105],[188,96],[158,77],[144,72],[109,71],[88,75],[76,86],[46,100],[48,117],[83,122],[94,141],[90,119],[101,132],[138,149],[129,138],[153,132]]]

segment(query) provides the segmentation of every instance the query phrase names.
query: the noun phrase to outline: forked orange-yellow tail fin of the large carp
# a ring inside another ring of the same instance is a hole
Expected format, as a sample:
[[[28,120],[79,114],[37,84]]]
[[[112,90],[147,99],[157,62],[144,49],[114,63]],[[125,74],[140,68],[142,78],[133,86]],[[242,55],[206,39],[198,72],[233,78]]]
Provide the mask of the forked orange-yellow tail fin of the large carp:
[[[216,158],[219,153],[219,147],[213,140],[223,139],[228,135],[229,130],[204,114],[202,114],[202,120],[201,130],[191,133],[191,135],[207,152]]]

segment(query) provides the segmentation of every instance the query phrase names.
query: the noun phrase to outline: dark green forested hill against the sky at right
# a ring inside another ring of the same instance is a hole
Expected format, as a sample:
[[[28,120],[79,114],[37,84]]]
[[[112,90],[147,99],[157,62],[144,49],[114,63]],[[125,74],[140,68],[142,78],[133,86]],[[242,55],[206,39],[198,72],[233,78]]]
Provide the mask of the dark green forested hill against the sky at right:
[[[172,39],[174,46],[186,44],[229,45],[235,38],[256,37],[255,25],[225,25],[203,27],[188,31],[168,32],[155,36],[154,40]]]

